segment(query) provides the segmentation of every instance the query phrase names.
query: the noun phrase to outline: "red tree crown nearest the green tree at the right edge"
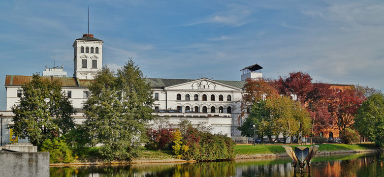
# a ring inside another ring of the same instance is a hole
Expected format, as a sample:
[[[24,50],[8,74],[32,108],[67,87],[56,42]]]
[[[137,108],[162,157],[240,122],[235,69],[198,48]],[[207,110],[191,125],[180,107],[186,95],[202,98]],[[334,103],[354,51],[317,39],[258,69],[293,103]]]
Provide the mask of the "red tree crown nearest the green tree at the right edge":
[[[333,122],[339,131],[349,127],[354,122],[357,109],[365,100],[361,91],[356,89],[334,89],[333,99],[329,105],[329,111]]]

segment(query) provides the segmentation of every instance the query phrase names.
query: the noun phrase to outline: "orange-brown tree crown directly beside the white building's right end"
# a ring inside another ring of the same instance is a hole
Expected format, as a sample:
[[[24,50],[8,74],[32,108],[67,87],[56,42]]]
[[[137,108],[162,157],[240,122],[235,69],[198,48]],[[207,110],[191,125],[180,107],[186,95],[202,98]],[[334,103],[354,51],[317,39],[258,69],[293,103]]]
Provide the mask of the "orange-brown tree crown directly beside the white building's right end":
[[[245,93],[242,94],[241,99],[238,101],[240,102],[241,110],[237,119],[238,122],[240,122],[241,118],[244,118],[247,110],[249,110],[254,103],[264,98],[278,96],[277,90],[264,79],[247,78],[245,82]]]

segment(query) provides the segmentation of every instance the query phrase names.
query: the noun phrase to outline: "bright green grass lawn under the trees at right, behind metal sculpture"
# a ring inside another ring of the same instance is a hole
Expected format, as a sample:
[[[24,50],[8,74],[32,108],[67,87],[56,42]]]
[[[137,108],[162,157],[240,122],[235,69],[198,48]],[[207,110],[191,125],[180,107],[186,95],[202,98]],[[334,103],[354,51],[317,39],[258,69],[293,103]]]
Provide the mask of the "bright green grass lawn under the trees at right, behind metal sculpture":
[[[290,144],[285,144],[290,146]],[[278,145],[236,145],[235,153],[236,154],[262,154],[262,153],[282,153],[286,150],[282,147],[283,144]],[[301,145],[293,145],[293,148],[299,147]],[[310,145],[303,145],[305,147],[310,147]],[[337,150],[366,150],[370,148],[376,148],[374,144],[322,144],[319,145],[319,152],[321,151],[337,151]]]

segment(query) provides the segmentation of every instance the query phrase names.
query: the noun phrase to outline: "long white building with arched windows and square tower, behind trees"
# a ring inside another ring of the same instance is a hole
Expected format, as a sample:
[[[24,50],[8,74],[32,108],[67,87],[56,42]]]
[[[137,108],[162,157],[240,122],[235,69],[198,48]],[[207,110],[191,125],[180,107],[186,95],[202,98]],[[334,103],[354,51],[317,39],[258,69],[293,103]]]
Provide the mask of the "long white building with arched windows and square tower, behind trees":
[[[83,116],[83,102],[88,98],[88,86],[102,67],[103,41],[94,38],[92,34],[84,34],[73,43],[73,77],[53,77],[60,80],[63,90],[70,98],[74,108],[78,111],[74,115],[75,121],[81,123]],[[157,79],[147,78],[154,90],[154,115],[158,118],[168,118],[173,125],[180,119],[186,118],[194,126],[211,126],[213,133],[222,133],[233,140],[242,138],[237,117],[240,114],[240,103],[243,85],[246,78],[261,78],[259,72],[262,67],[255,64],[242,69],[243,81],[216,81],[207,78],[190,79]],[[9,129],[12,125],[13,105],[20,103],[22,96],[21,85],[30,82],[32,76],[5,76],[6,110],[0,112],[1,143],[9,143]],[[241,122],[240,122],[241,124]],[[19,140],[23,141],[23,140]]]

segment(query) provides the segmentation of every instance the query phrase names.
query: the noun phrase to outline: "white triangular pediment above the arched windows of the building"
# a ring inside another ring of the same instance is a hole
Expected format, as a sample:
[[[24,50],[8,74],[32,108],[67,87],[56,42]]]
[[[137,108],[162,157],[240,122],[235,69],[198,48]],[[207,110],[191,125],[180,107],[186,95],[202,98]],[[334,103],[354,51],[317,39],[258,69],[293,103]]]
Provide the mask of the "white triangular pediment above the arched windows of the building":
[[[188,89],[188,90],[241,90],[225,85],[207,78],[193,80],[191,82],[166,87],[165,89]]]

